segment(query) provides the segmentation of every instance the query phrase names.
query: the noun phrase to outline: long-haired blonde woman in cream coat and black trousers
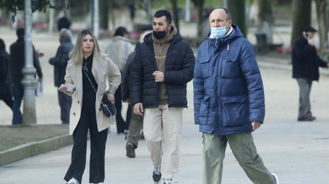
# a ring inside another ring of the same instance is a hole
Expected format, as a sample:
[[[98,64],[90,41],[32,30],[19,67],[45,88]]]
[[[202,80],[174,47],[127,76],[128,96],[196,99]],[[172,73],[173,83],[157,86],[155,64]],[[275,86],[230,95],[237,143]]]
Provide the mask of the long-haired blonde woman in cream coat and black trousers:
[[[86,166],[87,133],[90,132],[89,183],[103,183],[105,177],[104,157],[107,128],[111,118],[104,115],[100,107],[104,92],[114,101],[114,93],[121,82],[118,67],[99,52],[93,33],[82,30],[66,67],[65,85],[59,90],[73,96],[70,111],[70,131],[73,134],[71,165],[64,179],[67,183],[80,184]],[[110,86],[106,90],[106,79]],[[75,87],[67,91],[69,87]],[[95,92],[96,91],[96,92]],[[119,99],[120,100],[120,99]]]

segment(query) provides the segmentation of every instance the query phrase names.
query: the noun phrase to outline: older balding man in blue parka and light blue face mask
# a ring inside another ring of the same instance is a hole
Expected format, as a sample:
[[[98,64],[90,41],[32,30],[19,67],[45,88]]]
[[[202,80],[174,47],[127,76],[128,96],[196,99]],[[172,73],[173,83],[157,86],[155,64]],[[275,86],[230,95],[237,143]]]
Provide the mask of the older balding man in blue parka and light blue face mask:
[[[194,122],[202,132],[203,184],[220,184],[225,149],[255,184],[279,184],[257,154],[252,131],[264,122],[265,97],[255,51],[231,13],[209,16],[211,33],[200,45],[194,68]]]

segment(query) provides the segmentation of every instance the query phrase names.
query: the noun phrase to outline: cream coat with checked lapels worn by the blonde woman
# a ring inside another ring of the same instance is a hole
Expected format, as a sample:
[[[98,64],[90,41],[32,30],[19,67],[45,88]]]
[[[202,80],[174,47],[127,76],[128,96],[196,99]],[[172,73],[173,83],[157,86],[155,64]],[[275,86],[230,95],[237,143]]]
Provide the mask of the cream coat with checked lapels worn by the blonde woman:
[[[96,121],[98,131],[108,128],[111,124],[111,118],[104,115],[100,107],[104,92],[106,91],[106,79],[109,76],[108,92],[115,93],[116,89],[121,83],[121,73],[118,67],[107,57],[108,54],[99,53],[99,59],[93,57],[91,72],[98,84],[96,93]],[[72,60],[68,61],[66,67],[65,84],[74,84],[75,90],[73,92],[66,92],[67,95],[73,96],[72,106],[70,111],[70,131],[72,135],[77,126],[82,108],[82,68],[81,65],[76,65]],[[121,100],[121,99],[118,99]]]

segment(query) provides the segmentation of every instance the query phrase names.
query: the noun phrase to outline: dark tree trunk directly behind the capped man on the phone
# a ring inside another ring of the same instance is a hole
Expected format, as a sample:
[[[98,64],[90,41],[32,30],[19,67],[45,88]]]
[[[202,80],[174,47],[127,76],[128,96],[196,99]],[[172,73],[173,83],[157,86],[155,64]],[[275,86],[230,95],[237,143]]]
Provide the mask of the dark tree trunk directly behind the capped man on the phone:
[[[302,35],[306,25],[311,25],[311,0],[293,0],[291,44]]]

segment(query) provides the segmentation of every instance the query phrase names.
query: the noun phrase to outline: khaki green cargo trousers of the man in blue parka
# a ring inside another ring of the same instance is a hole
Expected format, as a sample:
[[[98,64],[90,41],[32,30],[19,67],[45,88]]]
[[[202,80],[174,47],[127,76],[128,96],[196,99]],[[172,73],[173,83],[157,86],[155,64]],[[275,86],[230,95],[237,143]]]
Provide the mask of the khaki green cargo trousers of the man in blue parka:
[[[262,158],[257,154],[251,133],[243,132],[221,137],[202,133],[203,184],[221,183],[227,142],[234,157],[253,183],[276,183],[272,174],[264,166]]]

